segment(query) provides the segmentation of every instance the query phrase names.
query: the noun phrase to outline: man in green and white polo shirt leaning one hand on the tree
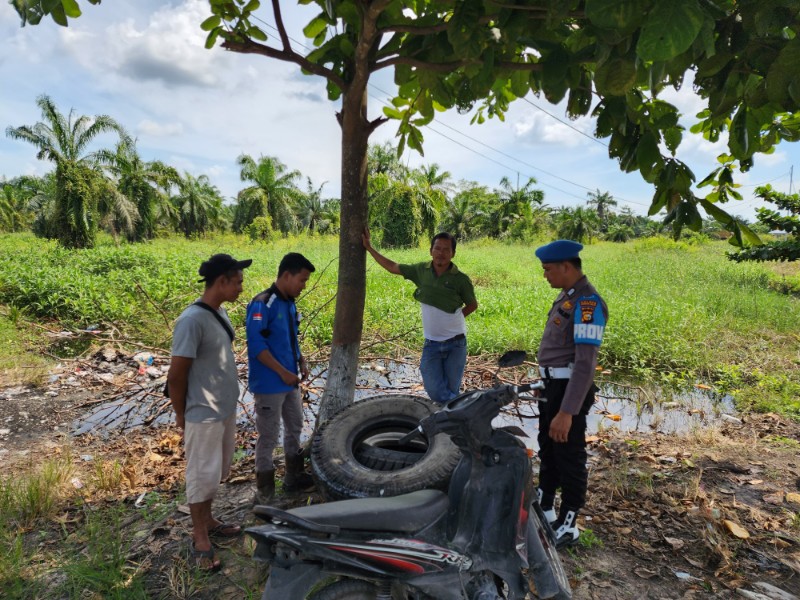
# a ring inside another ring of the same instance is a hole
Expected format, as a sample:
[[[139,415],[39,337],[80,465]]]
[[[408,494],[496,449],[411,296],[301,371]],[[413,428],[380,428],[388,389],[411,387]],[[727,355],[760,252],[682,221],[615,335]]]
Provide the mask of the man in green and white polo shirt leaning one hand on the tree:
[[[369,230],[362,236],[364,248],[384,269],[414,282],[414,298],[422,309],[425,345],[419,370],[425,391],[434,402],[458,396],[467,364],[467,324],[464,318],[475,312],[478,301],[469,277],[453,264],[456,239],[437,233],[431,240],[431,259],[401,265],[383,256],[370,243]]]

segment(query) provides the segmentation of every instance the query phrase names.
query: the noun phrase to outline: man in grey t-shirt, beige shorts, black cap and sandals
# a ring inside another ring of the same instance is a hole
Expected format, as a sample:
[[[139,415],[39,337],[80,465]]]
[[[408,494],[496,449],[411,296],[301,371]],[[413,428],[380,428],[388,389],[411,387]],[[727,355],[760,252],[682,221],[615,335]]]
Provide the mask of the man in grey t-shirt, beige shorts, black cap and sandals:
[[[205,571],[216,571],[211,537],[232,537],[241,527],[211,514],[220,481],[230,473],[236,445],[239,378],[233,355],[234,331],[223,302],[242,293],[243,269],[252,260],[215,254],[199,273],[205,290],[200,300],[175,322],[172,360],[167,374],[175,424],[184,432],[186,501],[192,517],[190,558]]]

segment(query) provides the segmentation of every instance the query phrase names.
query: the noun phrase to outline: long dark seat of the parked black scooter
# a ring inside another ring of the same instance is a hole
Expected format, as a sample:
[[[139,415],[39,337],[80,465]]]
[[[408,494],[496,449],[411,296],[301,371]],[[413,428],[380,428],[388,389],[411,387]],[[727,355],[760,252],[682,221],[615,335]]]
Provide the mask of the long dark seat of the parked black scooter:
[[[301,506],[286,512],[321,525],[359,531],[419,531],[442,516],[450,506],[447,494],[420,490],[391,498],[357,498]]]

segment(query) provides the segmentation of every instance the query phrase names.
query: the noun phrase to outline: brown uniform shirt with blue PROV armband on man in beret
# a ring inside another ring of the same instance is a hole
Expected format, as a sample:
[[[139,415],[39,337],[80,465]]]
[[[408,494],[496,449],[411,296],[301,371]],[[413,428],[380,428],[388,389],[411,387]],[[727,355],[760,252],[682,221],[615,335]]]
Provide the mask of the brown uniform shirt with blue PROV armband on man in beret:
[[[562,291],[550,312],[539,344],[542,367],[573,365],[561,410],[571,415],[580,412],[594,381],[597,355],[608,321],[608,307],[586,276]]]

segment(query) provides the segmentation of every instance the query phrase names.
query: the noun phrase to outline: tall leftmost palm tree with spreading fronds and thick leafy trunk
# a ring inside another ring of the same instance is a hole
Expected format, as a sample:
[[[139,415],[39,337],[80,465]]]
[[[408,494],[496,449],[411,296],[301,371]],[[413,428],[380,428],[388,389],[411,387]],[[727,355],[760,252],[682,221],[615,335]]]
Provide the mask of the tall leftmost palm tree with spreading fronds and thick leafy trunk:
[[[48,96],[39,96],[36,104],[42,111],[42,121],[35,125],[8,127],[6,135],[32,144],[36,158],[56,165],[56,196],[52,232],[67,248],[87,248],[94,245],[97,231],[96,185],[99,173],[95,154],[86,154],[88,145],[99,134],[117,132],[125,139],[125,130],[106,115],[76,117],[58,111]]]

